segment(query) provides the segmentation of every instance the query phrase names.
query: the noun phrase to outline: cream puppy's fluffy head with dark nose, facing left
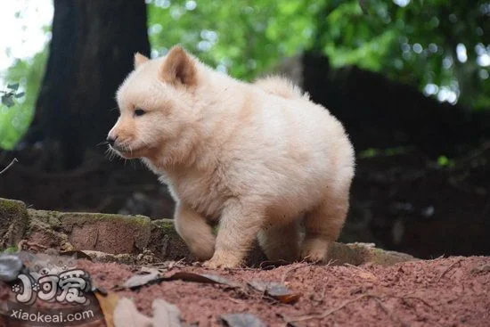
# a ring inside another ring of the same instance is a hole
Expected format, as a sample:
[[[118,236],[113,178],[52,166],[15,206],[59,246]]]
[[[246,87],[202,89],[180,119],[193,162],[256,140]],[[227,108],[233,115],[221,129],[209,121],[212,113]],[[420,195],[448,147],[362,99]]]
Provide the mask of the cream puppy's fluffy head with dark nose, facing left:
[[[110,129],[110,149],[123,158],[152,158],[165,143],[192,125],[198,62],[178,45],[165,57],[135,54],[135,69],[119,86],[118,121]]]

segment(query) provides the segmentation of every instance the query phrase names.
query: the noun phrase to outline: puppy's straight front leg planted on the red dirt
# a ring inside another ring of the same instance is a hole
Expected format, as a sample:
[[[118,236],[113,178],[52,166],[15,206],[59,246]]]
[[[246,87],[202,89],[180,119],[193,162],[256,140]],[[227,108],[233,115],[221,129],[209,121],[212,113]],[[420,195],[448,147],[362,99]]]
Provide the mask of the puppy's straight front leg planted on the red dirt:
[[[262,227],[263,217],[261,210],[257,210],[252,204],[237,199],[228,201],[219,222],[215,254],[204,266],[240,266]]]

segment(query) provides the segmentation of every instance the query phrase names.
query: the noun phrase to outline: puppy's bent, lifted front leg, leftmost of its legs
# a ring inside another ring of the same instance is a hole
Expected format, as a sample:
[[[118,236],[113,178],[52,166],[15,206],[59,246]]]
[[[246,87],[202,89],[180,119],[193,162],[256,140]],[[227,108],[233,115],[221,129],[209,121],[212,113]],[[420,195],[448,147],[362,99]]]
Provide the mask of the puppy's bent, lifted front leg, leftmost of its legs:
[[[174,220],[177,233],[196,258],[208,260],[213,257],[216,239],[204,217],[185,207],[184,204],[178,203]]]

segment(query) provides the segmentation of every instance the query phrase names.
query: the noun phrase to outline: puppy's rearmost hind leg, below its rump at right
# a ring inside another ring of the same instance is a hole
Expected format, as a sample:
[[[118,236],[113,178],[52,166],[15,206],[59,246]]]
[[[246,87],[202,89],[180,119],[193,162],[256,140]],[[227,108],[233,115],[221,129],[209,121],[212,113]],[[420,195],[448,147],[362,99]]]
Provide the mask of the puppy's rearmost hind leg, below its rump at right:
[[[311,262],[325,261],[329,246],[339,238],[346,220],[348,198],[347,187],[343,192],[329,194],[319,206],[306,214],[301,258]]]

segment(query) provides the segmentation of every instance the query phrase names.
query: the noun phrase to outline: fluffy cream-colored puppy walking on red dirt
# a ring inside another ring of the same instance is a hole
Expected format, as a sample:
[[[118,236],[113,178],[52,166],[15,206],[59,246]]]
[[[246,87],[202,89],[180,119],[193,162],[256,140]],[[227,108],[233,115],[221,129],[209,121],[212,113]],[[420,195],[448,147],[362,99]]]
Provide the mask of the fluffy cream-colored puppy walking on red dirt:
[[[177,45],[154,60],[137,53],[117,100],[111,149],[168,185],[176,231],[205,266],[240,266],[256,237],[271,260],[326,258],[347,216],[354,151],[297,86],[243,83]]]

